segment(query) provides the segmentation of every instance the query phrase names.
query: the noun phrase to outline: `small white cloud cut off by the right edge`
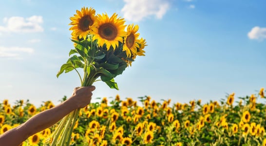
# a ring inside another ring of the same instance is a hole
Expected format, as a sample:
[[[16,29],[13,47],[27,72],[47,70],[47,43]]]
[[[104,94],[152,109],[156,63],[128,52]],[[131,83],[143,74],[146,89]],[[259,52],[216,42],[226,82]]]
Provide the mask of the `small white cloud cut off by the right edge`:
[[[255,26],[248,32],[247,37],[249,39],[263,40],[266,38],[266,27]]]

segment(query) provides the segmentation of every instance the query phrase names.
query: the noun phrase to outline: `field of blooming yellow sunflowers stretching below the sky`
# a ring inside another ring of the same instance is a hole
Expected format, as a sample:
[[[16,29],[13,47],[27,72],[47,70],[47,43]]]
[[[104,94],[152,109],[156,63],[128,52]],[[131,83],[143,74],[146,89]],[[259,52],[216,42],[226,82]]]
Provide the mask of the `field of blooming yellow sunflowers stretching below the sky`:
[[[266,146],[266,98],[257,94],[220,101],[156,102],[150,96],[120,100],[99,98],[79,112],[71,146]],[[66,97],[62,99],[65,100]],[[0,134],[35,114],[53,108],[51,101],[36,107],[29,101],[0,101]],[[58,122],[59,123],[59,122]],[[58,124],[36,133],[21,146],[49,146]]]

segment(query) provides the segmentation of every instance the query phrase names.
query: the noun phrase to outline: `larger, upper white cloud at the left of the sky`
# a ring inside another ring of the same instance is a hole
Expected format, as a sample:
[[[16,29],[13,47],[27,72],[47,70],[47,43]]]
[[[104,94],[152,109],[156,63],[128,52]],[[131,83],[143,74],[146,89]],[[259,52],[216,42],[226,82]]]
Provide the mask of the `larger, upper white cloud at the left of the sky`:
[[[3,22],[6,26],[0,26],[0,32],[43,32],[43,28],[40,25],[43,23],[42,16],[4,18]]]

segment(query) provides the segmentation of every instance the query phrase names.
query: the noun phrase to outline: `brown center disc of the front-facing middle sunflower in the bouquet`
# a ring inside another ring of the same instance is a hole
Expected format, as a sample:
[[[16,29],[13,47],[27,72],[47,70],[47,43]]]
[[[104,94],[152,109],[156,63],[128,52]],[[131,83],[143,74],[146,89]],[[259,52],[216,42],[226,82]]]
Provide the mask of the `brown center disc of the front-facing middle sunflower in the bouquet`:
[[[117,29],[111,23],[105,23],[99,27],[99,35],[100,37],[107,40],[114,40],[117,37]]]

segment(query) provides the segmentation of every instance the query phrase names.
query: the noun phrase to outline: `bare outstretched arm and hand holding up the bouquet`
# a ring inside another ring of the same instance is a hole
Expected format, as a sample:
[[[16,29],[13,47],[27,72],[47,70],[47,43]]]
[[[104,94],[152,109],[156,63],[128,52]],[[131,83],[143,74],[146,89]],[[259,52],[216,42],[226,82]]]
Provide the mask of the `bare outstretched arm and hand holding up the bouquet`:
[[[56,124],[71,111],[84,108],[90,104],[94,90],[94,86],[75,88],[72,96],[63,103],[36,114],[25,123],[0,135],[0,146],[19,146],[28,137]]]

